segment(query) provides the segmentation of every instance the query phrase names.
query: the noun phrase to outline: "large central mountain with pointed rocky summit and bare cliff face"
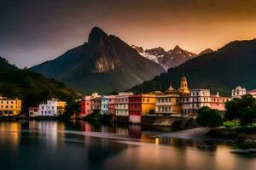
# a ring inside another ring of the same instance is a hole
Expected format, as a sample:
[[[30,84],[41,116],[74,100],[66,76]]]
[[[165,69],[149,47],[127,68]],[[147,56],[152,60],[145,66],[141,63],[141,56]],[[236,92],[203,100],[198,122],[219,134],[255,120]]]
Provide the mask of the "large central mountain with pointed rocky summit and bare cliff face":
[[[98,27],[90,31],[88,42],[82,46],[30,69],[67,82],[83,94],[121,91],[164,72],[160,65],[143,58],[119,37]]]

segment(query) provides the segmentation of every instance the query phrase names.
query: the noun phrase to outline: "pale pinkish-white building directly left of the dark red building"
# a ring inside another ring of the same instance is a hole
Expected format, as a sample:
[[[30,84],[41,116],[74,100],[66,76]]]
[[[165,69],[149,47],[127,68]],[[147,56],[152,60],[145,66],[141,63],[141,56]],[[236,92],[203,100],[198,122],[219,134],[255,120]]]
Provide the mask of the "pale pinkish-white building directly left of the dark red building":
[[[114,110],[115,116],[129,116],[129,96],[133,95],[131,92],[121,92],[115,96],[114,99]]]

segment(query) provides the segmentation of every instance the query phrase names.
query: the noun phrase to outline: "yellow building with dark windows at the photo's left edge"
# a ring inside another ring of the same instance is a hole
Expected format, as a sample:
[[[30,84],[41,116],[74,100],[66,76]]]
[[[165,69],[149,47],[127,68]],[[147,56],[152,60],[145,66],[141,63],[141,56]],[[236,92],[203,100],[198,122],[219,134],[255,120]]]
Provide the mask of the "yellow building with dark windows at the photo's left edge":
[[[21,113],[21,100],[0,96],[0,116],[17,116]]]

